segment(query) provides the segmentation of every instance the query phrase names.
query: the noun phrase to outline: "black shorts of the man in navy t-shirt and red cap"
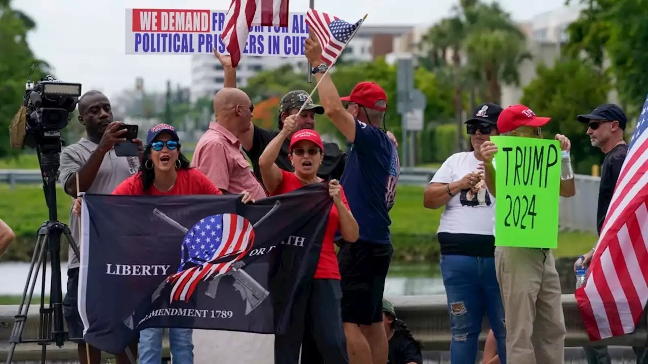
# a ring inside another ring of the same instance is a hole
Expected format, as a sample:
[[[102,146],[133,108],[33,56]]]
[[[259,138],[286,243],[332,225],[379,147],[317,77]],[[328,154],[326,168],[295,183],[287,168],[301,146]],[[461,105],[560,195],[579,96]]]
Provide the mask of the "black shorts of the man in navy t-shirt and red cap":
[[[391,244],[340,242],[343,322],[370,325],[382,321],[382,293],[393,253]]]

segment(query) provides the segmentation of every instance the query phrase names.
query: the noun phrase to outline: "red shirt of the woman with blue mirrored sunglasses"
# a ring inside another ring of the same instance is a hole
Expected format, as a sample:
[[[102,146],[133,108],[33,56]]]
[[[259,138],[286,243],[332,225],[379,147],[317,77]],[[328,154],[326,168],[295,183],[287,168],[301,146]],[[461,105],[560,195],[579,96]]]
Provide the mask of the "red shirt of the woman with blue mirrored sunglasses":
[[[113,195],[144,195],[141,172],[129,177],[117,186],[112,193]],[[178,179],[176,184],[167,192],[160,192],[155,186],[151,186],[148,194],[154,196],[173,196],[173,195],[222,195],[216,186],[196,168],[178,170]]]

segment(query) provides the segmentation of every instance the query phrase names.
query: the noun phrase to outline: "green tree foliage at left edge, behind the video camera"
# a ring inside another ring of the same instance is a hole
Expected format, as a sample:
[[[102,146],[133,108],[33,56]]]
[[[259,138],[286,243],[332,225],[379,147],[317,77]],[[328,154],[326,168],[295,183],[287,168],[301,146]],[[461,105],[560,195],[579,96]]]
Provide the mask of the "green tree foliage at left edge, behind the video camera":
[[[29,70],[34,62],[39,62],[27,43],[27,34],[35,27],[30,17],[10,6],[10,0],[0,0],[0,158],[21,153],[10,148],[8,130],[23,103]],[[32,81],[40,80],[47,67],[41,62]]]

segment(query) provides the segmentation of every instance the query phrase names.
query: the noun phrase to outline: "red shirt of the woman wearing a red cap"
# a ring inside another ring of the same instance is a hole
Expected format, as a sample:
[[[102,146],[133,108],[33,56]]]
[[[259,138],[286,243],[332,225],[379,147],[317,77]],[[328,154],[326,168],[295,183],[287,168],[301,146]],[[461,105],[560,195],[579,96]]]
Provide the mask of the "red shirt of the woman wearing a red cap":
[[[277,196],[280,194],[287,194],[288,192],[294,191],[297,188],[304,187],[304,184],[299,181],[299,178],[295,176],[292,172],[286,172],[281,170],[281,183],[275,193],[272,196]],[[342,197],[342,203],[349,209],[349,203],[347,198],[344,195],[344,190],[340,186],[340,195]],[[315,271],[315,279],[340,279],[340,267],[338,267],[338,256],[335,253],[335,245],[333,239],[335,237],[335,232],[338,231],[340,227],[340,214],[338,213],[338,207],[333,205],[330,208],[329,212],[329,222],[326,225],[326,231],[324,232],[324,240],[322,242],[322,250],[319,253],[318,267]]]

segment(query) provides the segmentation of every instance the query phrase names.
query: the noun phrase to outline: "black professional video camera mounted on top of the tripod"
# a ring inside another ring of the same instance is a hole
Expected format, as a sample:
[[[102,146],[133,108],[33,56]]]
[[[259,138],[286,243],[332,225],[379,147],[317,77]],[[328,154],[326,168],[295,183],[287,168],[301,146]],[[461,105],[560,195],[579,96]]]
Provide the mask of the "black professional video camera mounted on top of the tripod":
[[[76,109],[81,96],[81,84],[57,81],[54,76],[45,76],[40,82],[27,82],[23,99],[25,107],[25,145],[30,148],[49,144],[44,139],[60,137],[70,113]]]

